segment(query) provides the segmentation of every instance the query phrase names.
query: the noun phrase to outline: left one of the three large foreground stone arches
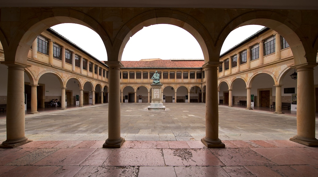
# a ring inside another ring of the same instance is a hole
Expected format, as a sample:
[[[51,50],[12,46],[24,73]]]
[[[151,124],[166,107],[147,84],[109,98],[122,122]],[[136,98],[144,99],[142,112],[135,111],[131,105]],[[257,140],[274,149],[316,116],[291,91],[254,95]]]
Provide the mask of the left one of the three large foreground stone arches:
[[[39,12],[29,19],[31,20],[20,26],[24,32],[17,30],[14,39],[10,42],[9,54],[6,56],[10,61],[26,64],[26,56],[34,39],[45,29],[60,23],[77,23],[93,29],[104,42],[107,53],[111,52],[112,45],[106,31],[100,27],[100,23],[85,13],[72,9],[56,8]]]

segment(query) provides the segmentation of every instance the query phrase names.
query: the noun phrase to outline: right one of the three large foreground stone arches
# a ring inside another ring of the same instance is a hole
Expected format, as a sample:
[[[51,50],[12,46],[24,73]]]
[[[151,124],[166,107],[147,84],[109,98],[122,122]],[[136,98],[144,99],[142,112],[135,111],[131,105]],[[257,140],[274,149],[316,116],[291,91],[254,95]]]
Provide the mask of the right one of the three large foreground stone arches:
[[[316,56],[317,49],[311,47],[308,37],[303,34],[302,30],[299,30],[300,26],[288,16],[270,10],[256,10],[238,16],[226,25],[218,37],[217,45],[222,46],[225,38],[233,29],[250,24],[266,26],[283,36],[293,52],[295,65],[314,62],[310,60],[314,58],[313,55]]]

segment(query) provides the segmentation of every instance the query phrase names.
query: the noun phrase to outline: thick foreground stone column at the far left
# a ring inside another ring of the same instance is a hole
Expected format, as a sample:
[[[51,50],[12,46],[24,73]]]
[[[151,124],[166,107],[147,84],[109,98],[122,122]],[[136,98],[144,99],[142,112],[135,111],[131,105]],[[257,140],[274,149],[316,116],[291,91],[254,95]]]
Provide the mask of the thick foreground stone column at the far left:
[[[24,68],[27,66],[10,63],[6,65],[8,66],[7,97],[10,99],[7,100],[7,139],[2,142],[0,148],[14,148],[31,142],[24,136]]]

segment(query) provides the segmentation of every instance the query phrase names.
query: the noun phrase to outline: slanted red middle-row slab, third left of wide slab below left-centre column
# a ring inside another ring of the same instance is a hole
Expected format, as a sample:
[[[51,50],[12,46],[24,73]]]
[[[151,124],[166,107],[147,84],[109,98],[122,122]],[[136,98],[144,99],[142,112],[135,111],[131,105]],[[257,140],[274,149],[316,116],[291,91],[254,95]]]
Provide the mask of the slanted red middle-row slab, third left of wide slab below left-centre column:
[[[62,148],[53,154],[43,158],[42,160],[36,162],[34,165],[43,166],[43,165],[57,165],[59,162],[63,161],[66,157],[75,153],[79,149],[74,148]]]

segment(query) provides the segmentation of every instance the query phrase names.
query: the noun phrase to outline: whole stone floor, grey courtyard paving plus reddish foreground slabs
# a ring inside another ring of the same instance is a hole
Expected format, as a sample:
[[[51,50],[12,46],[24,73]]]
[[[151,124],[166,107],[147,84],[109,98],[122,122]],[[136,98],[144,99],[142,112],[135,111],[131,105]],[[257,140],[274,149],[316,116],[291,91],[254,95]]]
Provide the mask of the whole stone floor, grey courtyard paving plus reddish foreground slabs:
[[[30,143],[0,149],[0,176],[316,176],[318,148],[289,141],[295,115],[219,106],[219,138],[206,148],[204,103],[121,104],[121,148],[108,138],[108,104],[25,116]],[[318,133],[316,119],[316,134]],[[5,117],[0,139],[6,140]]]

